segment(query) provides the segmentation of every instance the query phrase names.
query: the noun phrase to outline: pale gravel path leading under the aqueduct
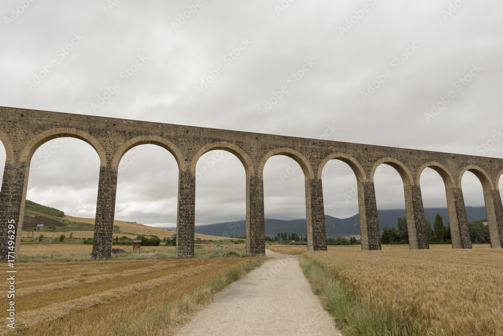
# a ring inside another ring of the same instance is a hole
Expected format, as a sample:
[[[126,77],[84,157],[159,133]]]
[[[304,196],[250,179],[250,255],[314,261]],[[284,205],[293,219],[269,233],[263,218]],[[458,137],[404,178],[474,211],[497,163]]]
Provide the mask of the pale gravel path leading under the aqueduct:
[[[339,335],[297,256],[275,258],[220,293],[178,335]]]

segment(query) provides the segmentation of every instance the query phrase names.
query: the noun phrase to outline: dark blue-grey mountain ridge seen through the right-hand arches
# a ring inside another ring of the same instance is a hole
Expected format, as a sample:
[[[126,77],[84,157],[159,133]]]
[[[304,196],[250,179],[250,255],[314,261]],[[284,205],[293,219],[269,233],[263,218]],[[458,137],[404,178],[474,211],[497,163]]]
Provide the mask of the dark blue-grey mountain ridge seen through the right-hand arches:
[[[439,213],[447,225],[449,216],[447,208],[427,208],[425,209],[425,217],[431,222],[436,214]],[[466,207],[466,215],[468,221],[481,220],[486,218],[485,207]],[[405,216],[405,209],[397,210],[378,210],[379,229],[382,230],[384,225],[388,227],[396,227],[398,217]],[[266,235],[274,236],[278,232],[297,232],[300,235],[306,234],[306,220],[280,220],[266,218],[265,220]],[[358,214],[349,218],[336,218],[325,215],[325,229],[328,237],[346,236],[351,234],[360,234],[360,216]],[[218,235],[218,236],[233,236],[239,237],[246,234],[245,221],[226,222],[209,225],[198,225],[196,230],[199,234]]]

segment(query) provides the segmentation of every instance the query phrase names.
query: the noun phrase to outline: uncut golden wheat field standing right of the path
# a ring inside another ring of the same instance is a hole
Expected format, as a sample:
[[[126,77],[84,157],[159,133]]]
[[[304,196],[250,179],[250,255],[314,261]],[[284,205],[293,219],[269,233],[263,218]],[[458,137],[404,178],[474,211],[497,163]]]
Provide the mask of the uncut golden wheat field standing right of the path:
[[[503,250],[430,247],[334,246],[307,257],[339,272],[357,297],[390,306],[405,321],[417,319],[433,334],[503,335]]]

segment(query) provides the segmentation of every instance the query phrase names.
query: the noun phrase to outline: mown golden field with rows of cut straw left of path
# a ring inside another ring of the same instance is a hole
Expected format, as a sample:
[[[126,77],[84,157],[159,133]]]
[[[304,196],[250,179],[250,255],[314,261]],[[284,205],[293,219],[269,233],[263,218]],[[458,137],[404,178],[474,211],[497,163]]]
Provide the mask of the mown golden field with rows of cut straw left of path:
[[[178,312],[171,326],[155,329],[151,320],[166,303],[180,300],[234,265],[255,259],[18,263],[15,334],[171,334],[188,314]],[[1,289],[0,295],[6,297],[7,287]],[[14,333],[4,323],[0,334]]]

